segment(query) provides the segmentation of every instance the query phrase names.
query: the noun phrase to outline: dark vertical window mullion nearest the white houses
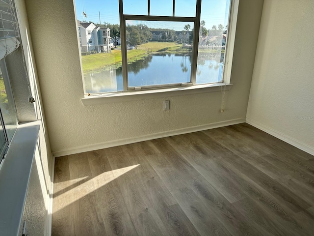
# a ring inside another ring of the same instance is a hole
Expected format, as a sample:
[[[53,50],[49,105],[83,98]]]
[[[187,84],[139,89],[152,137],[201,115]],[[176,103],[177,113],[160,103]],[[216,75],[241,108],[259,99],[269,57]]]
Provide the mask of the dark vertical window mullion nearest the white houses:
[[[122,0],[119,0],[119,15],[120,15],[120,40],[121,40],[123,90],[127,91],[128,89],[127,37],[126,37],[126,21],[123,15]]]

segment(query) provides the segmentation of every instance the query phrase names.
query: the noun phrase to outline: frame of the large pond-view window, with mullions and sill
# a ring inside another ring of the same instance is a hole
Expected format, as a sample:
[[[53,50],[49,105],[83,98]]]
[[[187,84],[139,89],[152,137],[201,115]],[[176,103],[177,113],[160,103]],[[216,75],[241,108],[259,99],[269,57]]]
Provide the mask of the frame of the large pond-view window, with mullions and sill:
[[[149,2],[150,0],[148,0]],[[196,66],[197,66],[197,54],[198,54],[198,40],[199,37],[193,37],[193,53],[192,61],[195,60],[195,65],[193,68],[193,77],[191,76],[192,83],[184,84],[171,84],[165,86],[146,86],[146,87],[130,87],[128,88],[127,81],[127,43],[126,43],[126,20],[158,20],[162,21],[168,19],[168,21],[190,21],[193,22],[198,20],[197,29],[194,26],[194,35],[199,35],[200,29],[200,3],[201,0],[197,0],[198,7],[196,9],[195,17],[163,17],[163,16],[143,16],[143,15],[124,15],[123,14],[123,3],[122,0],[119,0],[119,16],[120,16],[120,40],[121,40],[121,53],[122,53],[122,74],[123,74],[123,90],[116,92],[104,92],[104,93],[95,93],[95,94],[85,94],[81,98],[83,105],[95,105],[103,103],[112,103],[112,102],[123,102],[130,100],[138,99],[151,99],[151,98],[160,98],[164,96],[176,96],[176,95],[188,95],[202,92],[212,92],[212,91],[222,91],[230,90],[232,88],[231,84],[231,71],[232,71],[232,62],[233,62],[233,53],[235,45],[235,30],[238,14],[239,0],[230,0],[230,9],[229,9],[229,22],[228,22],[228,36],[225,44],[225,58],[224,58],[224,67],[223,67],[223,81],[218,83],[208,83],[208,84],[195,84],[196,79]],[[150,7],[150,6],[149,6]],[[179,20],[180,18],[180,20]],[[171,19],[171,20],[170,20]],[[197,30],[197,34],[196,34]],[[197,42],[197,44],[196,44]],[[192,68],[191,68],[192,70]],[[191,72],[192,74],[192,72]],[[83,73],[82,73],[82,78]],[[194,84],[193,84],[194,82]]]

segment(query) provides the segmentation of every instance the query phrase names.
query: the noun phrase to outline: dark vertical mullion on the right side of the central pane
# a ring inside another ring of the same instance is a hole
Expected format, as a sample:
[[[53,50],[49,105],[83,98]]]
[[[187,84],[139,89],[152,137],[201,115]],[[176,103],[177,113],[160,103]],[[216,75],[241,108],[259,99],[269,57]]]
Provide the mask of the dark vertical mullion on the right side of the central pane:
[[[191,82],[193,85],[196,84],[200,21],[201,21],[201,0],[197,0],[196,1],[196,21],[194,21],[194,29],[193,29],[193,44],[192,44],[193,47],[192,47],[192,64],[191,64]]]

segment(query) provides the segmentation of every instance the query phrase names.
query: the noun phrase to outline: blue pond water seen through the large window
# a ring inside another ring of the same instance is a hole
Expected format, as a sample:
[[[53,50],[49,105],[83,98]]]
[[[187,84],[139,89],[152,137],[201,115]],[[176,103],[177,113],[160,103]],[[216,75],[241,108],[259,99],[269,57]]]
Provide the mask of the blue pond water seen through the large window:
[[[199,54],[196,84],[222,80],[224,54]],[[154,54],[128,64],[129,87],[186,83],[190,81],[191,56],[188,54]],[[121,67],[84,74],[86,93],[122,91]]]

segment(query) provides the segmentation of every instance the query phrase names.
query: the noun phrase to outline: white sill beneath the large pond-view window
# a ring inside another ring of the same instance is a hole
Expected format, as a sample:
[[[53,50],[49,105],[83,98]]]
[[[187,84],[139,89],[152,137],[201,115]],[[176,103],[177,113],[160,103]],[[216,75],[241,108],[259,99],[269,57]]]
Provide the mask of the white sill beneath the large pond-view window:
[[[92,94],[81,98],[84,106],[97,105],[104,103],[125,102],[142,99],[152,99],[169,96],[182,96],[195,93],[216,92],[230,90],[232,84],[215,83],[206,85],[194,85],[188,87],[176,87],[167,89],[141,90],[141,91],[125,91],[110,92],[102,94]]]

